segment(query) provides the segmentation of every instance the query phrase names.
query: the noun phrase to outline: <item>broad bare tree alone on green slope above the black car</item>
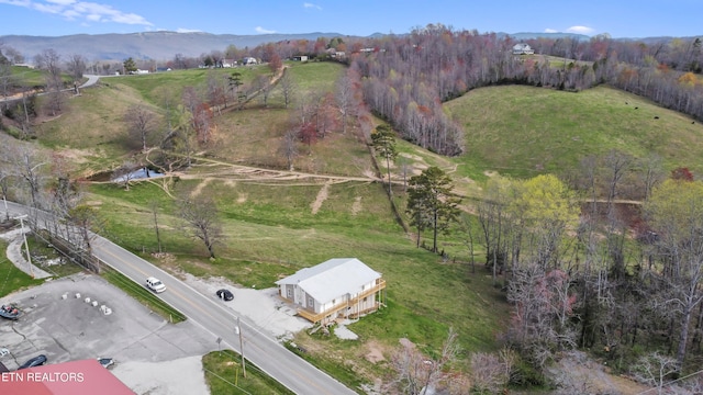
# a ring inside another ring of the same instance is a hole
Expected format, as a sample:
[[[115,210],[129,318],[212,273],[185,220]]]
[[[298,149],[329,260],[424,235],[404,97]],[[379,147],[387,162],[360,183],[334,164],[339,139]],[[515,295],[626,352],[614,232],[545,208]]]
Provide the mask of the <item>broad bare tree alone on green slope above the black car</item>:
[[[181,200],[178,205],[186,233],[201,240],[208,248],[210,258],[214,259],[214,246],[223,236],[214,200],[210,195],[198,194]]]

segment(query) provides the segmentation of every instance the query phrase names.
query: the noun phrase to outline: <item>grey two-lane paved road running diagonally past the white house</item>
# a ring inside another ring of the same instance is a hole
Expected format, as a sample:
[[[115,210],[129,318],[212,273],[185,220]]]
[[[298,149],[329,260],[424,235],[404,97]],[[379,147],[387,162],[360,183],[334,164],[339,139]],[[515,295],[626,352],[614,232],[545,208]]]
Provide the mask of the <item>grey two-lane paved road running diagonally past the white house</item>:
[[[24,214],[26,211],[24,206],[11,202],[8,202],[8,207],[11,215]],[[216,303],[217,300],[211,295],[201,294],[177,278],[102,237],[98,237],[93,241],[93,253],[110,267],[142,285],[149,275],[161,280],[168,289],[158,294],[158,297],[182,312],[191,321],[210,331],[213,339],[222,338],[227,347],[241,352],[239,337],[235,332],[237,316],[231,309]],[[257,330],[244,319],[242,319],[241,326],[246,359],[295,394],[355,394],[352,390],[287,350],[270,335]]]

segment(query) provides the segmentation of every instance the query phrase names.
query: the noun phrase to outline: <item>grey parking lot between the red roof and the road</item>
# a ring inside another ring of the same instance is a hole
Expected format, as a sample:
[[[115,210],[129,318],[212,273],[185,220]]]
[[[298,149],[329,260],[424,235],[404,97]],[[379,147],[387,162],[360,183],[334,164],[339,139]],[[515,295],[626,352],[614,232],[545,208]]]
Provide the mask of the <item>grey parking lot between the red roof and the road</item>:
[[[0,362],[10,370],[38,354],[49,364],[110,357],[113,373],[137,393],[207,393],[202,369],[194,370],[216,339],[190,321],[169,324],[100,276],[47,281],[0,303],[23,311],[16,321],[0,320],[0,349],[9,351]]]

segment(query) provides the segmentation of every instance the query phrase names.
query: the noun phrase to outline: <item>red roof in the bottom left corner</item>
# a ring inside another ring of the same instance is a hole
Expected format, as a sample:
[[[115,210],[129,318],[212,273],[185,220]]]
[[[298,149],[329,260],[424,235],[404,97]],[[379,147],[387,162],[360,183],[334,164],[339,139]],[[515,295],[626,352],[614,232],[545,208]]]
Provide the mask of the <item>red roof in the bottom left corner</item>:
[[[5,372],[2,395],[134,395],[97,360],[81,360]]]

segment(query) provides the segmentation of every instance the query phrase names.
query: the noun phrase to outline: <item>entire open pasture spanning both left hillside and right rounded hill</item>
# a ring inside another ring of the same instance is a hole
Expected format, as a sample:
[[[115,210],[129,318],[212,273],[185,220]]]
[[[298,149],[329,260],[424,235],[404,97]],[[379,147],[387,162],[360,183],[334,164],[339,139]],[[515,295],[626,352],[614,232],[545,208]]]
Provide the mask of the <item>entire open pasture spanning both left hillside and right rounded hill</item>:
[[[266,67],[237,70],[245,83],[271,77]],[[287,72],[297,94],[312,97],[333,92],[345,68],[289,63]],[[444,170],[462,198],[465,215],[476,212],[495,174],[562,174],[584,157],[614,148],[635,157],[656,154],[667,169],[703,173],[703,126],[678,112],[607,86],[579,92],[494,86],[444,104],[464,129],[462,155],[445,157],[398,139],[392,200],[382,182],[384,163],[372,157],[368,136],[356,123],[344,134],[337,127],[314,144],[299,144],[289,169],[280,147],[297,108],[287,109],[277,89],[266,103],[252,97],[241,106],[230,103],[213,111],[212,138],[198,146],[190,167],[160,168],[166,177],[135,180],[129,189],[107,181],[125,161],[158,163],[156,147],[171,127],[164,120],[179,111],[174,98],[231,74],[197,69],[102,78],[72,97],[60,116],[42,120],[37,144],[71,163],[71,177],[85,185],[85,201],[100,214],[103,236],[172,273],[222,276],[265,289],[331,258],[355,257],[381,272],[388,283],[387,307],[350,327],[359,340],[304,332],[295,337],[308,350],[305,359],[352,386],[391,377],[400,339],[434,356],[449,329],[457,331],[460,346],[455,368],[466,372],[471,353],[501,349],[510,319],[505,292],[483,266],[486,250],[471,255],[466,232],[457,227],[442,236],[444,257],[416,247],[414,230],[404,229],[411,218],[401,168],[408,177],[428,167]],[[124,123],[133,105],[160,115],[148,142],[154,148],[146,153],[135,147]],[[372,120],[373,125],[381,122]],[[214,259],[185,235],[179,219],[177,200],[199,195],[216,202],[222,223]],[[424,232],[421,242],[431,238]],[[156,255],[159,242],[165,253]],[[369,358],[378,351],[382,360]]]

